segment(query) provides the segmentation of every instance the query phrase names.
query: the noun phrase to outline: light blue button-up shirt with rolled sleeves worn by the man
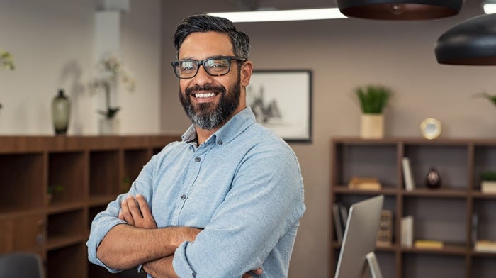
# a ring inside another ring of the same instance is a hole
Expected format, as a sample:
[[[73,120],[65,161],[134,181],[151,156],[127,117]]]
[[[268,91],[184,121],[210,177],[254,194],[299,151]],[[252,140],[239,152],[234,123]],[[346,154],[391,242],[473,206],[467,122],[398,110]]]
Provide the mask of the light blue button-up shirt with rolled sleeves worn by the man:
[[[291,148],[255,121],[237,113],[197,147],[191,126],[181,142],[154,155],[129,194],[145,196],[158,227],[203,228],[174,253],[179,277],[287,277],[300,218],[305,211],[300,165]],[[118,219],[120,201],[108,204],[91,225],[88,257]],[[107,269],[117,272],[117,269]]]

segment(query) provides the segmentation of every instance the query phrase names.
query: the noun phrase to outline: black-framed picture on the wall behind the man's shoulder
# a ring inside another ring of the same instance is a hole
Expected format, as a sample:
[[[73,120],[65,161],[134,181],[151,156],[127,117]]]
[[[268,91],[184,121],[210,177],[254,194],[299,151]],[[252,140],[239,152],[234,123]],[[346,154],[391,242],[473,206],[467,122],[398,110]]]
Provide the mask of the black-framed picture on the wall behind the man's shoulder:
[[[254,70],[247,106],[257,121],[288,142],[312,141],[312,72]]]

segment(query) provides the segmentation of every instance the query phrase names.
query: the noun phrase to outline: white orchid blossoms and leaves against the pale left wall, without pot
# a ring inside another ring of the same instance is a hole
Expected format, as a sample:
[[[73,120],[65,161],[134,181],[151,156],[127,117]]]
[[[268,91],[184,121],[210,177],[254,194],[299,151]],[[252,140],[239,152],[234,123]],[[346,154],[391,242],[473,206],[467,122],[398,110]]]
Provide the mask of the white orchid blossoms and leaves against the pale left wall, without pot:
[[[136,80],[133,74],[123,66],[123,63],[115,55],[108,55],[98,62],[98,70],[101,77],[94,79],[89,84],[89,93],[94,95],[103,90],[106,99],[106,111],[99,110],[98,113],[108,119],[115,117],[120,107],[111,106],[111,88],[118,82],[122,82],[126,91],[133,93],[136,91]]]

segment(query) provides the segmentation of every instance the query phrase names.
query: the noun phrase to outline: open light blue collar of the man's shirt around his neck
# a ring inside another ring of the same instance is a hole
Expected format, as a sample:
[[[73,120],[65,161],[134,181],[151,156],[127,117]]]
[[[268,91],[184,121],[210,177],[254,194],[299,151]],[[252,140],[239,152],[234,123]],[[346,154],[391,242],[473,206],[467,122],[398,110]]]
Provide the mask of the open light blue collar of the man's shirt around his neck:
[[[205,143],[210,140],[215,140],[215,145],[222,145],[229,143],[232,139],[236,138],[239,133],[251,126],[256,122],[255,115],[251,108],[247,107],[230,118],[224,126],[215,131]],[[186,132],[181,136],[184,143],[196,142],[196,129],[191,125]]]

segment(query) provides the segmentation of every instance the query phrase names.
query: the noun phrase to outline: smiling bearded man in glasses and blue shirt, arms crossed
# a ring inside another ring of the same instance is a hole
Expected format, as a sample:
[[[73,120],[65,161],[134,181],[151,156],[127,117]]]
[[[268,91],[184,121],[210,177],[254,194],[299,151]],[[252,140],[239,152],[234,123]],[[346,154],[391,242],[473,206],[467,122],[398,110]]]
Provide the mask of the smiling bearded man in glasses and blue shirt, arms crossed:
[[[190,16],[174,45],[193,125],[96,216],[89,260],[152,277],[287,277],[303,179],[291,148],[246,106],[249,38],[225,18]]]

